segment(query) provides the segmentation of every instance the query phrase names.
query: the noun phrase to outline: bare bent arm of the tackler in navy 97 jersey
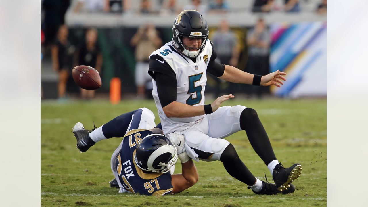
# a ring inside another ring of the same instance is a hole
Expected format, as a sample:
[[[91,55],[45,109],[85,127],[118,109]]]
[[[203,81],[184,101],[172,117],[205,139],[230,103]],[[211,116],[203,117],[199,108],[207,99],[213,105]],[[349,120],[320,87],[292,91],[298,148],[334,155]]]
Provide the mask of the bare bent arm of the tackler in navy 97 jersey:
[[[171,184],[173,185],[174,193],[180,193],[185,189],[194,186],[198,181],[198,172],[192,159],[188,162],[181,163],[182,172],[181,174],[171,175]]]

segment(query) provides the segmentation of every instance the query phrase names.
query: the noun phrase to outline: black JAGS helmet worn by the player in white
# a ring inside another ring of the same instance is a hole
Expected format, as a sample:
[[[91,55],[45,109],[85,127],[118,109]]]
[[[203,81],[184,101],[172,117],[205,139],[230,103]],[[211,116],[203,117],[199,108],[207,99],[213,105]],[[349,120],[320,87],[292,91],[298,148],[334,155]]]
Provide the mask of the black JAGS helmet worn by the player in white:
[[[190,48],[183,45],[183,37],[201,38],[200,48]],[[177,15],[173,25],[174,46],[189,58],[198,57],[203,51],[208,38],[207,21],[201,13],[195,10],[184,10]],[[195,51],[191,51],[195,50]]]

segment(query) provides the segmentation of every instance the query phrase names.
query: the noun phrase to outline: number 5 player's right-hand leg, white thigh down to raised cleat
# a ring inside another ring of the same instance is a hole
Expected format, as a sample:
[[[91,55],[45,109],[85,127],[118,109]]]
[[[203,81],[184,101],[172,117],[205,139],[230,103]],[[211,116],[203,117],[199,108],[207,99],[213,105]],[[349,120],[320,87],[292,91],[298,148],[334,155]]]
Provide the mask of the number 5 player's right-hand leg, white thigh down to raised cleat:
[[[206,119],[209,123],[208,135],[211,137],[224,138],[245,130],[254,151],[267,165],[279,190],[286,189],[293,180],[300,177],[300,164],[284,168],[276,159],[266,130],[254,109],[239,105],[223,106]]]

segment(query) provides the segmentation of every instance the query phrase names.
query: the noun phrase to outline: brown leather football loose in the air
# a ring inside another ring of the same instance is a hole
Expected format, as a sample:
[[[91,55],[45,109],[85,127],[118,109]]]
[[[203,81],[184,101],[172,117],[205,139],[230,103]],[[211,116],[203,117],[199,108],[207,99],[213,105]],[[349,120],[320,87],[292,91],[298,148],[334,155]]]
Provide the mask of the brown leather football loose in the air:
[[[85,90],[96,90],[102,85],[100,74],[90,66],[74,67],[72,76],[75,83]]]

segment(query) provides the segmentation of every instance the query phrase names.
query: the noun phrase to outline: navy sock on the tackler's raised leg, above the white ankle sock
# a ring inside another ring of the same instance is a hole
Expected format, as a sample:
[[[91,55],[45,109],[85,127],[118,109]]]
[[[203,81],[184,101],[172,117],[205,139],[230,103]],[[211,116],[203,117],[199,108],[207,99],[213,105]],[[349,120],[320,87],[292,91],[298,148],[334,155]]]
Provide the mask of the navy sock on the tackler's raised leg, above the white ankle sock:
[[[124,113],[104,124],[102,127],[103,135],[106,138],[123,137],[127,133],[130,121],[132,120],[132,114],[136,111]]]

